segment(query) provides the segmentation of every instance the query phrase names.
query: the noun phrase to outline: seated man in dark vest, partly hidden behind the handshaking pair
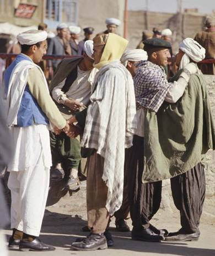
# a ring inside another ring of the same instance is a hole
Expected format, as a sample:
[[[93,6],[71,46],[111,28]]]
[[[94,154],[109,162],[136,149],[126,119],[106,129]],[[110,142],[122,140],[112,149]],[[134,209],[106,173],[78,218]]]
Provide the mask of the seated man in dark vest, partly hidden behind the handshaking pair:
[[[91,86],[96,74],[96,69],[93,69],[92,54],[93,40],[85,41],[83,57],[63,60],[57,66],[51,81],[52,98],[60,111],[66,114],[67,119],[71,114],[89,105]],[[55,177],[58,172],[55,169],[56,165],[61,164],[65,173],[64,186],[68,190],[77,191],[79,187],[78,167],[81,159],[79,139],[68,138],[65,133],[56,135],[52,132],[50,132],[50,138],[54,169],[51,170],[51,177]]]

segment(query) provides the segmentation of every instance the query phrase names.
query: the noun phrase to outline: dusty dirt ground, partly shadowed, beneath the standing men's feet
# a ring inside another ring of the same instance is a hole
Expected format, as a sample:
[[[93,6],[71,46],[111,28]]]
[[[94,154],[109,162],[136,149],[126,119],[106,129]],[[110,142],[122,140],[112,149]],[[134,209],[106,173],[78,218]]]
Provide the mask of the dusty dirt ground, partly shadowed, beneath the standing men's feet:
[[[160,209],[153,218],[152,223],[158,228],[167,228],[168,231],[177,231],[180,228],[179,213],[175,209],[170,211]],[[83,237],[86,233],[81,228],[87,224],[87,212],[85,206],[85,182],[76,194],[61,198],[53,206],[46,208],[44,222],[42,224],[41,240],[56,247],[54,252],[19,252],[10,250],[9,256],[17,255],[182,255],[182,256],[215,256],[215,208],[213,198],[207,198],[201,219],[201,237],[198,242],[160,242],[147,243],[132,241],[131,233],[115,231],[114,218],[111,221],[111,233],[115,246],[106,250],[94,252],[76,252],[71,249],[71,243],[77,237]],[[132,228],[131,220],[128,220]],[[11,231],[6,230],[7,238]]]

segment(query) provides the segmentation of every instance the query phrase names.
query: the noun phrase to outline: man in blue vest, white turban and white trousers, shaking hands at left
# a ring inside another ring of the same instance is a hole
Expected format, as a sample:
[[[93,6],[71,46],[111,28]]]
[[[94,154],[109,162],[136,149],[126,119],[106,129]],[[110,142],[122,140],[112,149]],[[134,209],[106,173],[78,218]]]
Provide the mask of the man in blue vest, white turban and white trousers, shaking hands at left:
[[[35,63],[46,54],[47,33],[28,30],[17,36],[21,54],[4,74],[7,125],[12,133],[15,154],[8,165],[11,191],[11,228],[9,248],[53,250],[39,237],[44,216],[51,150],[49,124],[69,129],[65,118],[52,101],[45,76]]]

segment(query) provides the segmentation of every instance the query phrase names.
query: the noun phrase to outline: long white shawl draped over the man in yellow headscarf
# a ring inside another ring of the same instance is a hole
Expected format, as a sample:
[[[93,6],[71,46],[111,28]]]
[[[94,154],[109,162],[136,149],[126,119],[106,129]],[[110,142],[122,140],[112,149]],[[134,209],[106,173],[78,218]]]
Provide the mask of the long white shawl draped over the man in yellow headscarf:
[[[96,74],[92,92],[81,144],[104,158],[106,208],[112,215],[122,204],[125,148],[136,129],[133,79],[120,61],[112,61]]]

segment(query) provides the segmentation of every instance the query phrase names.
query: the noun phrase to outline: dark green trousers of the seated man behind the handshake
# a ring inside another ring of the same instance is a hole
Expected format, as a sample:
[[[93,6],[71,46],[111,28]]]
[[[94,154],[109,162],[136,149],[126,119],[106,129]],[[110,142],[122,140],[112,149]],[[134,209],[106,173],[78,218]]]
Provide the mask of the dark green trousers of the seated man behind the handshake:
[[[61,163],[65,177],[70,175],[72,168],[78,170],[80,162],[80,143],[77,139],[69,138],[65,133],[56,135],[50,132],[52,166]]]

